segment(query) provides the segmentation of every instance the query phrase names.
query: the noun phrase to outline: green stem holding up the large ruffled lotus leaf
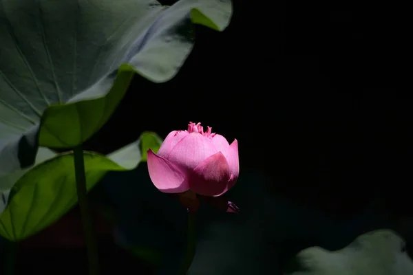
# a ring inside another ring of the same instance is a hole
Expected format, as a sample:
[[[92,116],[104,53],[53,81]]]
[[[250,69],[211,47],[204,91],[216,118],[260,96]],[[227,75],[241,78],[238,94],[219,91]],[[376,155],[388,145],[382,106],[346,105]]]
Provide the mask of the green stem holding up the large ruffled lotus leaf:
[[[89,204],[87,203],[85,161],[83,159],[82,146],[74,148],[74,171],[76,175],[78,203],[79,208],[81,209],[83,231],[85,233],[87,258],[89,260],[89,275],[98,275],[98,250],[94,236],[92,214],[90,213]]]

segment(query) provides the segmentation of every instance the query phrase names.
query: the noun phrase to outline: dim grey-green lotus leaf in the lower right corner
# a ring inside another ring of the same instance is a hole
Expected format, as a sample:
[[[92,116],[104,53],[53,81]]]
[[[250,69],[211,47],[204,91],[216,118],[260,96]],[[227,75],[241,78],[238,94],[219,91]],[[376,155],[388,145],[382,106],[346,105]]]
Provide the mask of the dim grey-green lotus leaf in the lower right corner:
[[[307,248],[295,256],[289,275],[407,275],[413,261],[405,243],[391,230],[359,236],[342,250]]]

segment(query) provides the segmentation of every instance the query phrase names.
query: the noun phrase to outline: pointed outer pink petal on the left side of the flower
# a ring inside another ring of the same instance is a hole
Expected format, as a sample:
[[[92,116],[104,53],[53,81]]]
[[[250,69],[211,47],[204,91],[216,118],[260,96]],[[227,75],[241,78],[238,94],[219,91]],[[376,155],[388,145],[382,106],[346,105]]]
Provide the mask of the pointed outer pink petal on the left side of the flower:
[[[149,177],[161,192],[179,193],[189,190],[186,175],[169,160],[153,153],[151,149],[148,150],[147,163]]]

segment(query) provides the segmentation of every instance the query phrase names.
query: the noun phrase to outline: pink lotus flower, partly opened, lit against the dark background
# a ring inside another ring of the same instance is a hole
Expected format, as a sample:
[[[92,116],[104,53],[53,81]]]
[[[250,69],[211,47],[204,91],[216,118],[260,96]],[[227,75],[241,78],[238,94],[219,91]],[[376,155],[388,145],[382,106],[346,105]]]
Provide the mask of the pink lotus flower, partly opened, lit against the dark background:
[[[188,131],[172,131],[158,154],[147,152],[149,176],[161,192],[218,197],[231,189],[240,173],[238,142],[204,132],[201,124],[190,122]]]

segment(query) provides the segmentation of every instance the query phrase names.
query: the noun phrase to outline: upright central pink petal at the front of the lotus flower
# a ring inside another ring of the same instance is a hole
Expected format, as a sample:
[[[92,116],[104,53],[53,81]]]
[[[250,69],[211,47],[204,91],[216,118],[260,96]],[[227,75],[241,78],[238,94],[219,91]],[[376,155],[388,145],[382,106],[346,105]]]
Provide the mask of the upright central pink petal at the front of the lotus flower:
[[[200,162],[217,152],[207,137],[200,133],[189,133],[173,147],[167,158],[176,166],[191,172]]]

